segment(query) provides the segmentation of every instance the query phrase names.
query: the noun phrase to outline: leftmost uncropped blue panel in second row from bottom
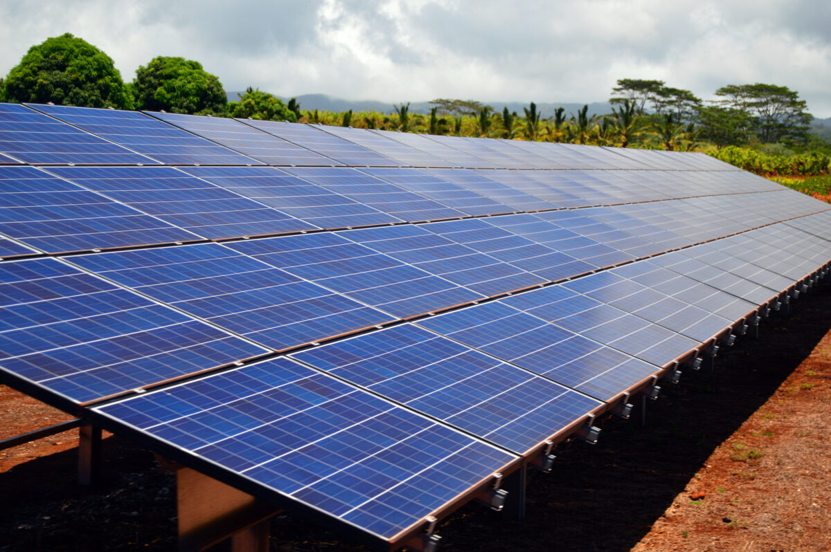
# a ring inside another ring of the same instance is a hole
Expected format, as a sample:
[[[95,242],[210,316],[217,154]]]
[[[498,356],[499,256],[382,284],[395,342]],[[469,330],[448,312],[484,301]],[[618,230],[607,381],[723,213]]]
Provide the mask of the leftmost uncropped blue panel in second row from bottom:
[[[393,320],[219,244],[75,256],[72,262],[276,350]]]

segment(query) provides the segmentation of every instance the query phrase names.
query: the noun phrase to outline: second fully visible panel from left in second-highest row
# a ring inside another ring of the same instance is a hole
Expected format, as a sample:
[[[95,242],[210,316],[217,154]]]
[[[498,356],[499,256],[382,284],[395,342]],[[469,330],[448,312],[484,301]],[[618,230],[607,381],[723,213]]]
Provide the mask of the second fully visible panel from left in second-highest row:
[[[181,170],[317,227],[335,229],[401,222],[398,217],[271,167],[189,167]]]

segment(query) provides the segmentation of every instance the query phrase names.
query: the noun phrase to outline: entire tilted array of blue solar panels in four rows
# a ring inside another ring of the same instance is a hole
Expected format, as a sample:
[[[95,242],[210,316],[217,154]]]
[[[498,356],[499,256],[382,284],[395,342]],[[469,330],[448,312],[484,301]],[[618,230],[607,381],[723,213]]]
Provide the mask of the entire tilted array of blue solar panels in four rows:
[[[399,545],[804,291],[829,229],[702,154],[0,105],[0,377]]]

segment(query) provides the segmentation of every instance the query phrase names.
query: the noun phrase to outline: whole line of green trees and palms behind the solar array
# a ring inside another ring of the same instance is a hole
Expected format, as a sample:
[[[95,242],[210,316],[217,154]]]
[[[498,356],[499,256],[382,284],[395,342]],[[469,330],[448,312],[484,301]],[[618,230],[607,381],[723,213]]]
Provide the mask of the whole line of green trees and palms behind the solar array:
[[[544,116],[533,102],[519,115],[475,100],[437,99],[429,115],[413,114],[409,104],[388,114],[301,110],[274,95],[248,88],[228,102],[217,76],[197,61],[159,56],[140,66],[135,79],[121,80],[103,51],[66,33],[32,46],[20,64],[0,81],[0,100],[175,113],[250,117],[343,125],[404,132],[524,138],[574,144],[661,149],[721,148],[756,141],[804,144],[812,116],[799,94],[778,85],[727,85],[719,100],[703,102],[690,90],[664,81],[622,79],[612,89],[612,112],[589,115],[588,105],[566,114],[561,107]]]

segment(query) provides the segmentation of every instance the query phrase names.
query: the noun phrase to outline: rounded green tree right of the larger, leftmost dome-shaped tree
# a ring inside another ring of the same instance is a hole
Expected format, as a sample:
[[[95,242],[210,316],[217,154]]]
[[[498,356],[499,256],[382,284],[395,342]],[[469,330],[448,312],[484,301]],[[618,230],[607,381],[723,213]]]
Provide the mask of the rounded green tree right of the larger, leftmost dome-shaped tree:
[[[133,88],[140,110],[220,113],[228,103],[219,78],[184,57],[158,56],[139,66]]]

